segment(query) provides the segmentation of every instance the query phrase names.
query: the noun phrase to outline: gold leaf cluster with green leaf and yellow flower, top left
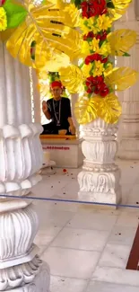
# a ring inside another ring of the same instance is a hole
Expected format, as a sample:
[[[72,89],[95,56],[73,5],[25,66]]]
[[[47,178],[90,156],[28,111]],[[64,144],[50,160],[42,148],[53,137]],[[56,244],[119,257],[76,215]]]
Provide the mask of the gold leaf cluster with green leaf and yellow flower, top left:
[[[6,47],[13,58],[26,66],[46,66],[48,71],[57,72],[79,55],[81,36],[75,28],[80,12],[74,4],[62,0],[36,3],[3,0],[0,31],[4,31]]]

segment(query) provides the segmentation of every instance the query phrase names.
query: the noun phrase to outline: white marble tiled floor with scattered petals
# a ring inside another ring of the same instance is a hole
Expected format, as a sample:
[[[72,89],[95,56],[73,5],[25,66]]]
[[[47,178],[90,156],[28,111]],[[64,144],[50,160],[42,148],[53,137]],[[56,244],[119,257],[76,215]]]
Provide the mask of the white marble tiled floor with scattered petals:
[[[117,162],[122,204],[139,207],[139,162]],[[34,188],[39,214],[35,242],[51,270],[51,292],[138,292],[139,270],[126,263],[139,224],[139,208],[96,208],[78,203],[80,170],[56,169]],[[46,201],[74,199],[77,203]]]

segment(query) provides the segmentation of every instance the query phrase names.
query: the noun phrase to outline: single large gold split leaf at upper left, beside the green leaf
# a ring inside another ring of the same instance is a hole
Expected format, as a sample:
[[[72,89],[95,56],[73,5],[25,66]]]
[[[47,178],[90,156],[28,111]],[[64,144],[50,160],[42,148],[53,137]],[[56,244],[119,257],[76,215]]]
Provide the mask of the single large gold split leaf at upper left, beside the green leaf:
[[[71,28],[71,15],[49,4],[39,5],[32,8],[30,4],[26,9],[28,16],[7,41],[7,49],[13,58],[27,65],[33,66],[30,59],[30,45],[36,42],[35,66],[45,66],[49,60],[57,61],[65,55],[73,59],[80,51],[80,34]],[[54,66],[53,66],[54,70]]]

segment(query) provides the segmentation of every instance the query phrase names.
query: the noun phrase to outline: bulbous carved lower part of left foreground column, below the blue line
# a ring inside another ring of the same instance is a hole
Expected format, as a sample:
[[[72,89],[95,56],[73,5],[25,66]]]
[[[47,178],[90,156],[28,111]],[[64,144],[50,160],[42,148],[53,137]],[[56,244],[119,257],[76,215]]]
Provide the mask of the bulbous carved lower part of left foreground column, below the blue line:
[[[49,292],[48,264],[32,243],[38,217],[29,199],[0,202],[0,230],[0,291]]]

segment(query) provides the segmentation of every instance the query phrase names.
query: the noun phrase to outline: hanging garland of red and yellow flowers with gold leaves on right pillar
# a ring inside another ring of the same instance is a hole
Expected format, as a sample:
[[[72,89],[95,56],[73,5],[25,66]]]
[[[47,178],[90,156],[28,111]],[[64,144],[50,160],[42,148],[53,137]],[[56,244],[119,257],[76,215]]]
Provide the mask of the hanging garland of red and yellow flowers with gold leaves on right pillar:
[[[130,0],[85,0],[81,3],[80,27],[83,31],[80,67],[71,65],[59,71],[61,80],[71,93],[84,92],[75,104],[80,124],[93,119],[117,123],[121,105],[115,91],[126,90],[137,79],[137,72],[128,67],[115,68],[113,56],[129,56],[136,33],[112,31],[113,22],[126,12]]]

